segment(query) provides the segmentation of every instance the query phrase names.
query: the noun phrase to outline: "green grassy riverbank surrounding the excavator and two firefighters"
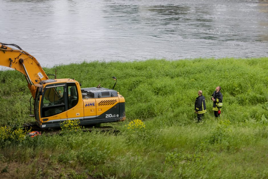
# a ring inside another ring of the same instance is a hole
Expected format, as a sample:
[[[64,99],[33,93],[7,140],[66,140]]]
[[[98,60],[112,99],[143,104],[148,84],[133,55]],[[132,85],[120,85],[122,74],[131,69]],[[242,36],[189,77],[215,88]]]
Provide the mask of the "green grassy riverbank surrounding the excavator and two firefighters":
[[[82,87],[113,87],[126,100],[125,122],[111,135],[77,132],[2,142],[0,177],[9,178],[267,178],[268,58],[92,62],[45,68]],[[28,117],[25,77],[0,72],[0,124]],[[210,96],[222,87],[223,116]],[[195,123],[198,90],[206,97],[204,122]],[[144,131],[130,131],[131,120]],[[107,124],[103,124],[107,125]]]

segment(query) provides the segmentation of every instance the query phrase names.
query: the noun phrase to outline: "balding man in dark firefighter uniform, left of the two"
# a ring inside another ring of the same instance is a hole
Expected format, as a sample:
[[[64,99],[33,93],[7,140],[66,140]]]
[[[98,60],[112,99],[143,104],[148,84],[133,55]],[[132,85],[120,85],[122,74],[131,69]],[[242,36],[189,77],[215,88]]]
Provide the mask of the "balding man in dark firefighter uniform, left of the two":
[[[198,97],[195,99],[194,112],[197,113],[197,122],[201,122],[206,110],[206,100],[202,91],[198,91]]]

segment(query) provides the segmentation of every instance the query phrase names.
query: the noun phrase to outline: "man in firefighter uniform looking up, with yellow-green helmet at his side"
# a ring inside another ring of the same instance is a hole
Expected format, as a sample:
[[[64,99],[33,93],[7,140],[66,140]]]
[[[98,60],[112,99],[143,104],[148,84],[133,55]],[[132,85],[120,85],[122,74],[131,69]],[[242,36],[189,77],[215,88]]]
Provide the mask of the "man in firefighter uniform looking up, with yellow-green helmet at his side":
[[[211,100],[213,101],[213,108],[215,117],[221,116],[222,113],[222,93],[220,92],[222,88],[220,86],[216,87],[216,91],[211,96]],[[220,106],[220,107],[219,107]]]

